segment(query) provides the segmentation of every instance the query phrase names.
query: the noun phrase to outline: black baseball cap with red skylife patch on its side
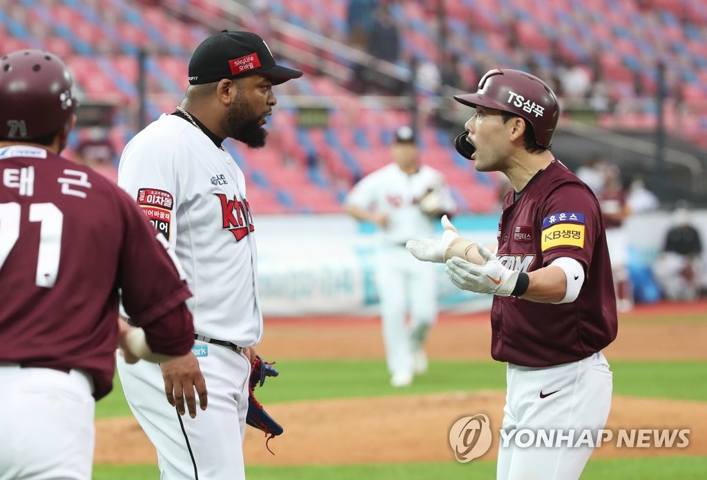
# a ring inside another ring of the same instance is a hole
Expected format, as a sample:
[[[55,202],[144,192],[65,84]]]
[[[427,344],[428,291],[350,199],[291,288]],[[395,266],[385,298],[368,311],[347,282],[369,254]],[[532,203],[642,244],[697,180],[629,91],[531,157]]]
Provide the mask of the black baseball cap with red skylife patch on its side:
[[[273,85],[300,78],[302,72],[276,65],[264,40],[252,32],[223,30],[199,44],[189,61],[189,84],[218,82],[259,73]]]

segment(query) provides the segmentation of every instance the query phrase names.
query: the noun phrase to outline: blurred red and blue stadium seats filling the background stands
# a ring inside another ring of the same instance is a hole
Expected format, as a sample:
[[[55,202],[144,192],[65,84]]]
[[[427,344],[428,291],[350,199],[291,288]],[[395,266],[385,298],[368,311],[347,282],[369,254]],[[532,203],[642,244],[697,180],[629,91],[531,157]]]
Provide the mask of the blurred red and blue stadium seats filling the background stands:
[[[43,46],[66,58],[76,82],[86,92],[88,100],[117,101],[131,108],[136,100],[130,93],[134,90],[127,83],[136,83],[137,63],[133,56],[122,52],[132,51],[134,47],[154,47],[160,55],[151,58],[151,66],[156,68],[148,76],[148,112],[150,115],[170,112],[188,85],[189,54],[211,30],[207,31],[197,23],[180,20],[178,13],[172,15],[169,8],[156,6],[158,2],[148,3],[129,4],[115,0],[10,2],[3,11],[8,22],[0,25],[0,44],[4,51]],[[529,55],[534,52],[537,54],[534,61],[539,72],[554,70],[556,64],[553,62],[556,59],[560,59],[563,64],[576,63],[585,61],[583,56],[588,52],[601,52],[598,59],[601,78],[595,80],[602,80],[607,85],[612,102],[620,102],[617,112],[626,112],[627,106],[631,109],[631,101],[638,95],[655,95],[655,73],[649,69],[653,68],[663,52],[674,52],[677,55],[665,56],[665,59],[671,75],[679,81],[677,85],[682,89],[680,97],[683,103],[681,109],[668,107],[665,110],[665,120],[671,133],[684,136],[699,145],[707,143],[703,139],[707,138],[704,135],[707,124],[704,118],[707,112],[707,66],[703,61],[707,57],[707,43],[699,37],[707,28],[707,3],[703,0],[633,0],[619,2],[620,8],[615,3],[609,0],[446,2],[445,8],[450,18],[448,50],[466,52],[473,46],[493,59],[494,66],[507,68],[530,66]],[[194,0],[189,5],[199,11],[206,11],[214,19],[223,18],[222,7],[213,0]],[[327,35],[327,32],[335,32],[332,38],[346,41],[346,0],[332,0],[321,5],[307,0],[279,0],[276,8],[284,9],[287,18],[294,17],[296,23],[304,28]],[[404,48],[402,61],[407,61],[412,55],[436,61],[439,54],[436,30],[433,28],[436,4],[407,1],[398,2],[392,8],[397,12],[402,11],[404,18],[399,23]],[[136,15],[141,18],[136,19]],[[518,49],[510,47],[508,20],[513,22],[518,34]],[[240,28],[248,29],[250,20],[246,22]],[[159,35],[148,35],[151,30],[145,30],[144,25],[150,25]],[[21,38],[11,37],[10,31],[16,35],[19,35],[16,33],[19,31]],[[555,38],[562,39],[567,35],[572,36],[568,37],[571,41],[552,44]],[[295,66],[298,65],[298,52],[303,53],[303,58],[305,52],[322,54],[299,37],[283,35],[280,40],[289,46],[289,54],[285,57],[294,61]],[[555,46],[558,47],[557,51],[551,48]],[[92,54],[121,54],[110,56],[109,59],[76,56],[74,49]],[[291,56],[293,52],[294,56]],[[281,56],[281,52],[274,53]],[[344,67],[344,59],[336,52],[329,52],[325,56]],[[479,71],[487,66],[490,65],[484,57],[469,58],[462,54],[462,90],[472,90],[477,83]],[[585,64],[585,67],[591,68],[589,64]],[[312,64],[302,68],[313,72],[318,66]],[[288,192],[293,189],[291,186],[297,186],[295,190],[299,192],[308,191],[307,186],[312,185],[306,170],[310,160],[308,155],[312,152],[317,157],[325,181],[336,181],[339,185],[353,181],[353,172],[359,168],[363,174],[367,174],[383,167],[392,161],[389,143],[395,129],[410,123],[409,112],[406,110],[391,109],[385,102],[362,102],[361,97],[339,85],[327,72],[320,76],[308,75],[299,82],[279,85],[276,94],[280,102],[267,126],[270,134],[268,148],[250,150],[239,143],[234,144],[237,145],[239,162],[243,163],[246,174],[249,174],[249,169],[257,169],[274,188],[284,188]],[[325,131],[308,131],[303,136],[296,128],[298,118],[295,105],[303,96],[326,97],[326,102],[334,104],[329,116],[333,141]],[[471,165],[467,169],[464,164],[457,162],[450,145],[442,144],[443,140],[440,140],[434,128],[428,126],[429,112],[424,108],[424,99],[419,101],[419,136],[423,161],[448,176],[450,184],[462,192],[460,198],[469,203],[469,208],[483,209],[489,202],[483,200],[486,193],[477,193],[477,190],[484,192],[488,186],[481,181]],[[122,117],[119,119],[122,123],[112,130],[118,148],[124,145],[129,130]],[[655,114],[643,111],[604,114],[598,119],[600,126],[606,128],[639,130],[653,128],[655,121]],[[332,141],[331,145],[329,141]],[[350,164],[351,161],[356,164]],[[321,190],[311,197],[320,195],[327,198]],[[285,208],[273,192],[254,193],[256,196],[259,194],[269,210],[282,211]],[[310,197],[293,201],[300,203],[299,200],[303,204],[312,201]]]

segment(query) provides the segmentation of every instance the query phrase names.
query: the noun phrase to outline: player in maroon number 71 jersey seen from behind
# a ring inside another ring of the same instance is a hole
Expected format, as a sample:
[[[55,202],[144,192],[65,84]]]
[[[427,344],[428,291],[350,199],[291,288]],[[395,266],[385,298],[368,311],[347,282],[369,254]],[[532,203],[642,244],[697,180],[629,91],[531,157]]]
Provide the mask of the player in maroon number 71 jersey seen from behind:
[[[59,57],[3,56],[0,105],[0,479],[88,480],[117,345],[190,354],[191,293],[134,201],[59,156],[76,121]],[[119,291],[139,328],[119,324]]]

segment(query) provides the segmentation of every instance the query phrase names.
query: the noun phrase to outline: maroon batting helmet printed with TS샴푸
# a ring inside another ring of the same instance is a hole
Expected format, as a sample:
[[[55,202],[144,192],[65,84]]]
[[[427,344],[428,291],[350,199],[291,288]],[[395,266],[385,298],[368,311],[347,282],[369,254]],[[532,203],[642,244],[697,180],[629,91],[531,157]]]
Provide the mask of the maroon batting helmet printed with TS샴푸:
[[[560,108],[547,83],[530,73],[494,68],[481,78],[476,93],[455,95],[454,100],[469,107],[481,105],[522,116],[532,125],[535,142],[550,148]]]

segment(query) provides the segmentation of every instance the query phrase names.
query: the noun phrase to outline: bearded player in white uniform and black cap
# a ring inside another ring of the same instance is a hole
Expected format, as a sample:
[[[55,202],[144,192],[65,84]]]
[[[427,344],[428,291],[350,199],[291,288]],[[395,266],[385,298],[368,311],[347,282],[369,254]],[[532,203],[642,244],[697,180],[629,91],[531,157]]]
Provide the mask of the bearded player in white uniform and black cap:
[[[190,359],[162,364],[161,371],[118,365],[128,403],[156,447],[163,480],[245,478],[246,354],[260,341],[263,325],[251,205],[243,172],[221,142],[230,137],[262,147],[262,126],[276,104],[272,85],[301,75],[277,66],[253,33],[212,35],[189,62],[191,85],[181,106],[138,133],[122,154],[119,185],[169,241],[194,292],[188,306],[197,342]],[[179,397],[203,391],[202,373],[209,408],[182,418],[165,401],[165,389],[183,414]]]

